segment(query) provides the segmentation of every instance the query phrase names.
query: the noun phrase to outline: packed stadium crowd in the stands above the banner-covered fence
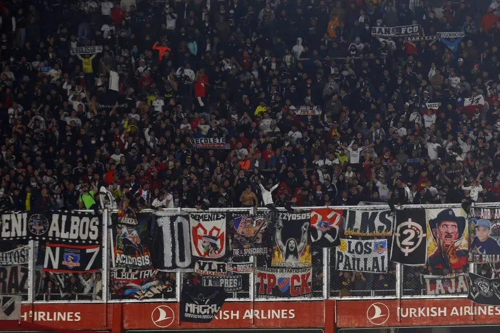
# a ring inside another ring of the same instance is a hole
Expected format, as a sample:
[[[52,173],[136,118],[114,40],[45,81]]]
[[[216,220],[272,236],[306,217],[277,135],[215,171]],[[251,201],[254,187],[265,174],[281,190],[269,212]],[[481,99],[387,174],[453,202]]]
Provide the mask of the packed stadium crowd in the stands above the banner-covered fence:
[[[0,5],[3,211],[499,201],[495,1]]]

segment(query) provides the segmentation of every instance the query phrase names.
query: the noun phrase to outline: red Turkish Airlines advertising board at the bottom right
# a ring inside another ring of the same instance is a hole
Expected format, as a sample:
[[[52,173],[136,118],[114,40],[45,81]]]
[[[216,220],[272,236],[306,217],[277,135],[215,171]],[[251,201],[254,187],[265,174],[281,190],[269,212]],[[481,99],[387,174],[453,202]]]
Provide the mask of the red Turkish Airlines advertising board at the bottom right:
[[[336,327],[500,324],[500,307],[467,299],[337,301]]]

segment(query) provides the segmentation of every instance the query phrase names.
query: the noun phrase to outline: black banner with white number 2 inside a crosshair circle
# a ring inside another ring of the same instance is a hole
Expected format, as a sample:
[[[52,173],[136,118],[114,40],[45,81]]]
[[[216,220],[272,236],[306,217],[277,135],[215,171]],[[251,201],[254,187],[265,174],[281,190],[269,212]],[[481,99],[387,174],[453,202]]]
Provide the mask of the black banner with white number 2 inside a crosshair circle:
[[[427,256],[425,210],[396,210],[390,261],[408,266],[423,266]]]

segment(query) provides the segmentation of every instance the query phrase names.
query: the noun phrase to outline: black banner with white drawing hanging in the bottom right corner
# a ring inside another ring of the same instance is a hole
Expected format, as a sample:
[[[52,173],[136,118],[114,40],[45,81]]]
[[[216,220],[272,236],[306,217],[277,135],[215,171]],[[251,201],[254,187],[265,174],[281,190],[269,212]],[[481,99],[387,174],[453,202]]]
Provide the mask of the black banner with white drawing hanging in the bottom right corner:
[[[474,273],[467,277],[468,299],[481,305],[500,306],[500,279],[487,279]]]

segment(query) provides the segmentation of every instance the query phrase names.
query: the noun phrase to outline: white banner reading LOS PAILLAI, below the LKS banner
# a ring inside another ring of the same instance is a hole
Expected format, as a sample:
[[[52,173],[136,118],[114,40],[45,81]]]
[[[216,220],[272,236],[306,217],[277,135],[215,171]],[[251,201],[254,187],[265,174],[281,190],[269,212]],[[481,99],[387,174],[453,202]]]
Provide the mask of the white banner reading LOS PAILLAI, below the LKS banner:
[[[356,271],[387,273],[387,240],[367,241],[341,239],[336,247],[335,269],[337,271]]]

